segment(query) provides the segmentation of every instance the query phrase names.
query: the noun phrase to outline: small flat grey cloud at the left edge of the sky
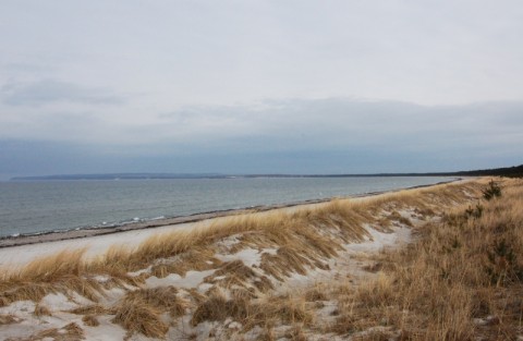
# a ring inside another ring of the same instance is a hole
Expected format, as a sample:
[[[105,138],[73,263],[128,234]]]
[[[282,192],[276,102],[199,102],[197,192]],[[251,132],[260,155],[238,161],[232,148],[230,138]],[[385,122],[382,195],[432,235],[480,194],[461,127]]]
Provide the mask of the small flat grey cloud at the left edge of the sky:
[[[41,106],[54,102],[83,105],[120,105],[124,100],[101,88],[83,87],[73,83],[42,80],[28,84],[4,84],[3,103],[8,106]]]

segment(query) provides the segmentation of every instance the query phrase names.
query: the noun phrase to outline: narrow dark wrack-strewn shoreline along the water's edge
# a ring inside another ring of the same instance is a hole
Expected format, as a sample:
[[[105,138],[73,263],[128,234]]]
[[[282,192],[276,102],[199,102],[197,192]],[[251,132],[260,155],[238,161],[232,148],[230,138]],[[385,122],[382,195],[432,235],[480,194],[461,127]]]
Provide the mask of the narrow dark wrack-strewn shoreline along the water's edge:
[[[154,219],[154,220],[139,221],[139,222],[131,222],[131,223],[112,226],[107,228],[88,227],[88,228],[82,228],[82,229],[76,228],[73,230],[48,231],[48,232],[40,232],[40,233],[34,233],[34,234],[21,234],[16,236],[2,236],[0,238],[0,249],[23,246],[23,245],[32,245],[32,244],[52,243],[52,242],[77,240],[77,239],[88,239],[93,236],[115,234],[115,233],[122,233],[122,232],[129,232],[129,231],[156,229],[156,228],[162,228],[162,227],[175,227],[175,226],[181,226],[186,223],[197,223],[197,222],[203,222],[203,221],[211,220],[216,218],[265,212],[269,210],[292,208],[292,207],[306,206],[306,205],[323,204],[323,203],[331,202],[337,198],[350,199],[350,198],[372,197],[372,196],[381,195],[386,193],[394,193],[399,191],[430,187],[430,186],[436,186],[445,183],[453,183],[453,182],[461,181],[464,178],[455,178],[449,181],[438,182],[434,184],[410,186],[410,187],[389,190],[389,191],[361,193],[361,194],[354,194],[354,195],[349,195],[344,197],[328,197],[328,198],[321,198],[321,199],[308,199],[303,202],[280,203],[280,204],[272,204],[272,205],[260,205],[260,206],[254,206],[254,207],[232,208],[232,209],[218,210],[218,211],[199,212],[199,214],[193,214],[188,216],[178,216],[178,217]]]

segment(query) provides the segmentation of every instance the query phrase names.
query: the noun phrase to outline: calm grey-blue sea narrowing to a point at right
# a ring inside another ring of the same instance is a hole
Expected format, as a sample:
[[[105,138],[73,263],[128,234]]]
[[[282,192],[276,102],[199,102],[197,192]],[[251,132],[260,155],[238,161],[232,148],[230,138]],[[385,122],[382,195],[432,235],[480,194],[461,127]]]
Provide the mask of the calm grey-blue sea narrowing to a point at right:
[[[0,239],[448,182],[442,176],[0,182]]]

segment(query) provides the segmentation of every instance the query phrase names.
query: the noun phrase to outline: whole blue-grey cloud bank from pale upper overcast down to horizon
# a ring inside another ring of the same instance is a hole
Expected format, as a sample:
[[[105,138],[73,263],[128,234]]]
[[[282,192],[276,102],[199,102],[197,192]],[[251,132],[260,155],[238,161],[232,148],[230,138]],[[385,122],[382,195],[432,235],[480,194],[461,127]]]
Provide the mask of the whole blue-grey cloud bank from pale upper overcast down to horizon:
[[[428,107],[272,99],[147,115],[125,115],[126,108],[112,107],[117,111],[46,108],[35,108],[25,121],[0,117],[4,178],[41,172],[446,171],[520,165],[523,157],[523,102]]]

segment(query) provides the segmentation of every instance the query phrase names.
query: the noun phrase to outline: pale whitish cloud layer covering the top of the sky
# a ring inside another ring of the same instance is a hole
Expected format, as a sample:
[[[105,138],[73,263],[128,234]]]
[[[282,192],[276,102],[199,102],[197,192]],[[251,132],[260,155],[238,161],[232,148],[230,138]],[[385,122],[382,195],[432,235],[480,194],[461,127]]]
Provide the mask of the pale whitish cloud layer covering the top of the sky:
[[[163,109],[287,97],[523,99],[516,0],[4,1],[0,23],[2,77],[149,92]]]

